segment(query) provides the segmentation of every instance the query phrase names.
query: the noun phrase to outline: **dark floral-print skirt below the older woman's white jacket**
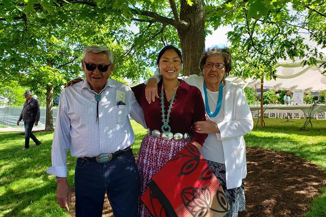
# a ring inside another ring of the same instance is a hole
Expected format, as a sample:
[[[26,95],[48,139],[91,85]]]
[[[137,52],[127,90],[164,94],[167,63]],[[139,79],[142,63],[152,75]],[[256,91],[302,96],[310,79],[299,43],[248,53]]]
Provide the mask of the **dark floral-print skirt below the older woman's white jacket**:
[[[226,189],[225,164],[206,160],[217,180],[220,182],[230,204],[230,211],[225,217],[237,217],[239,211],[245,210],[244,179],[240,187]]]

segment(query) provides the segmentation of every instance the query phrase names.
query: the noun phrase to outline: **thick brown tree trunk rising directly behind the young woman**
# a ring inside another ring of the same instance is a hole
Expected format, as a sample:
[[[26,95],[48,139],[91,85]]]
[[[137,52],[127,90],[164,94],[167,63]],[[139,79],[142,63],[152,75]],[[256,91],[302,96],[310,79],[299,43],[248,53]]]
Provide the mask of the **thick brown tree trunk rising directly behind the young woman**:
[[[177,28],[183,55],[183,75],[201,75],[200,57],[205,50],[205,12],[202,0],[189,6],[181,0],[180,20],[189,23],[187,29]]]

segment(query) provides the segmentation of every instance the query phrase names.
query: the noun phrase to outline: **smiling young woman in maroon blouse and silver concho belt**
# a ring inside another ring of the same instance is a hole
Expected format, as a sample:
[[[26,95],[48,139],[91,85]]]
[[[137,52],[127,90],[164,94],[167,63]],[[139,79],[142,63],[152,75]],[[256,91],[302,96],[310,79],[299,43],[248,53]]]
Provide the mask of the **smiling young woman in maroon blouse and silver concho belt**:
[[[205,107],[196,87],[178,79],[182,68],[180,50],[173,46],[164,47],[158,54],[157,66],[162,79],[157,84],[159,100],[149,104],[145,96],[146,85],[132,88],[144,114],[148,134],[141,142],[138,169],[141,177],[141,195],[147,182],[188,142],[198,149],[207,134],[197,133],[196,121],[205,120]],[[140,201],[139,216],[152,216]]]

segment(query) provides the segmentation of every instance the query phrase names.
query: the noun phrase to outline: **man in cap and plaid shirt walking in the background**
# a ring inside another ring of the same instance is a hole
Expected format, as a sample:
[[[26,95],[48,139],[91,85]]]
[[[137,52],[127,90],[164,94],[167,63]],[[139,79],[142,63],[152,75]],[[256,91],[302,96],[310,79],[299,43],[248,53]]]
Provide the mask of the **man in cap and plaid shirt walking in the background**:
[[[26,90],[24,92],[24,97],[26,102],[24,103],[22,113],[19,115],[19,119],[17,121],[17,125],[19,126],[19,122],[24,120],[25,147],[23,147],[23,151],[29,148],[29,138],[35,142],[35,145],[41,144],[41,142],[38,141],[36,136],[32,133],[34,124],[37,126],[40,119],[40,106],[38,105],[37,100],[32,97],[32,92],[30,90]]]

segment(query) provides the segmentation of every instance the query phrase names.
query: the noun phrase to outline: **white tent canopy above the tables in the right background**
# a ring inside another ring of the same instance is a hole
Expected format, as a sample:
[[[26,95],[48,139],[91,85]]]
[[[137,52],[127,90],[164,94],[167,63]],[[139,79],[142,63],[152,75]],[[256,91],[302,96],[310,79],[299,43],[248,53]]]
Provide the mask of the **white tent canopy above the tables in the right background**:
[[[326,58],[319,60],[318,63],[326,62]],[[326,89],[326,74],[322,75],[323,69],[316,66],[302,67],[300,62],[282,62],[275,66],[276,80],[267,81],[264,79],[264,88],[269,89],[289,89],[303,92],[321,91]],[[241,84],[244,87],[260,88],[260,80],[246,79],[229,76],[227,80]]]

